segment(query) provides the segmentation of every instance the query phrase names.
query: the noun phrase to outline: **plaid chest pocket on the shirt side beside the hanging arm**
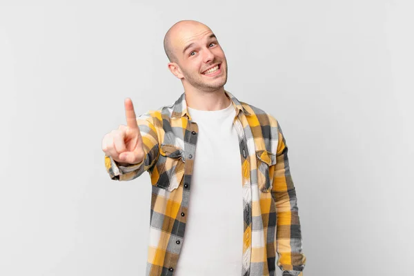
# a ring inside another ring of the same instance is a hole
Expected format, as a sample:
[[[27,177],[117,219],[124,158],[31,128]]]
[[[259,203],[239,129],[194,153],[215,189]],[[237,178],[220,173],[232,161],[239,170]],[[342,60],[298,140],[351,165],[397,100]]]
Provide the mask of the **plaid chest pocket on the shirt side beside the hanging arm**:
[[[267,150],[257,150],[257,186],[264,193],[270,192],[273,187],[276,155]]]

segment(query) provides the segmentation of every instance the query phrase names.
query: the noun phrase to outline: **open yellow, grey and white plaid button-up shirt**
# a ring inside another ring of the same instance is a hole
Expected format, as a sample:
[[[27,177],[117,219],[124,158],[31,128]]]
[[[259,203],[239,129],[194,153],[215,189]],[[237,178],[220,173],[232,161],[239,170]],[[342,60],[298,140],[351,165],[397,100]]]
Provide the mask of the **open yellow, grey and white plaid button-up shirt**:
[[[238,101],[228,91],[226,96],[236,109],[233,124],[239,136],[243,179],[242,276],[275,275],[276,266],[284,276],[302,276],[306,257],[282,129],[272,115]],[[198,127],[188,113],[184,93],[172,105],[140,115],[137,122],[145,159],[119,166],[106,156],[106,170],[119,181],[135,179],[145,171],[150,174],[146,275],[171,276],[185,239]]]

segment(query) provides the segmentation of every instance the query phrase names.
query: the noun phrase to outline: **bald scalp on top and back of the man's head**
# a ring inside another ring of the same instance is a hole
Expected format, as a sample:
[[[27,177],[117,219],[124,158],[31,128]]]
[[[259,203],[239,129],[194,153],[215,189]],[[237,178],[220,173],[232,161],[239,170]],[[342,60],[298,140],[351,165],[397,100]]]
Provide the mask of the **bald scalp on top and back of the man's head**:
[[[195,30],[197,28],[208,28],[205,24],[195,21],[195,20],[182,20],[178,21],[166,32],[164,37],[164,51],[168,57],[170,62],[178,63],[176,50],[177,50],[177,43],[182,41],[188,32]]]

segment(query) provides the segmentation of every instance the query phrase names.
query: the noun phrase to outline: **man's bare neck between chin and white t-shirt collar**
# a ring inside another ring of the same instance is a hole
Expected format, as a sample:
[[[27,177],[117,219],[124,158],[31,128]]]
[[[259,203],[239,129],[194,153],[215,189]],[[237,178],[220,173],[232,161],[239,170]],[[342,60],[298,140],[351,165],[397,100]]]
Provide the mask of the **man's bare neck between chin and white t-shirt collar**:
[[[230,104],[230,99],[224,93],[224,87],[215,91],[186,90],[186,103],[197,110],[221,110]]]

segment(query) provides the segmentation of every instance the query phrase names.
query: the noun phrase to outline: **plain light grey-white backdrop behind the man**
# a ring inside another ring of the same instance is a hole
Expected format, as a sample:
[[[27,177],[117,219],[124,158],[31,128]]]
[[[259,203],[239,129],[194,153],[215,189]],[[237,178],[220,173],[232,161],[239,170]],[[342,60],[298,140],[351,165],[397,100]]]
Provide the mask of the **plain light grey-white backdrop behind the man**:
[[[290,148],[304,275],[413,275],[413,1],[0,1],[0,275],[144,275],[150,178],[101,139],[184,92],[164,34],[217,35]],[[280,275],[279,268],[277,273]]]

